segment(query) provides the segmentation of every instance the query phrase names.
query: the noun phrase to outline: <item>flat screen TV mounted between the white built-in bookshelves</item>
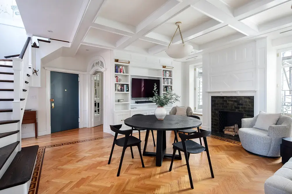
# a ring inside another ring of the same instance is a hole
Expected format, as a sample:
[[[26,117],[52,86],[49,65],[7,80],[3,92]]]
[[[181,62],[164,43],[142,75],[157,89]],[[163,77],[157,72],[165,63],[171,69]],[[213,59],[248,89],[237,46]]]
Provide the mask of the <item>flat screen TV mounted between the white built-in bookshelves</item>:
[[[160,94],[160,80],[132,78],[132,99],[153,97],[154,83],[157,85],[157,93]]]

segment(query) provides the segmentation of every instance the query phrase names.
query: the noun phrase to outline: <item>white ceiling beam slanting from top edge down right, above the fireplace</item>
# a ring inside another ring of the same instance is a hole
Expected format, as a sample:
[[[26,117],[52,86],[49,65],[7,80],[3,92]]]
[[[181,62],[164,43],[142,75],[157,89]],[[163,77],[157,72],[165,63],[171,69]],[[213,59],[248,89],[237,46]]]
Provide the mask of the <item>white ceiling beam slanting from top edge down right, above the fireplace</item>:
[[[192,6],[205,15],[212,17],[214,20],[230,25],[233,29],[245,34],[246,36],[256,35],[258,33],[254,29],[248,27],[246,24],[239,22],[234,17],[213,6],[206,0],[201,0]]]

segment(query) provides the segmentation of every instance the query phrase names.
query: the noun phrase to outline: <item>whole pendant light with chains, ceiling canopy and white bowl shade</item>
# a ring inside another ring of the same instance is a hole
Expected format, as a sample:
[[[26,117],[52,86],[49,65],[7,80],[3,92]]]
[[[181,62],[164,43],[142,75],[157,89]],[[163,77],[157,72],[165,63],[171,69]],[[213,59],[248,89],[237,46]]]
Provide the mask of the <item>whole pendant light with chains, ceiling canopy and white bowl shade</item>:
[[[188,45],[185,44],[185,42],[183,41],[183,35],[180,31],[180,25],[182,24],[182,22],[176,22],[175,25],[177,26],[175,33],[179,30],[180,32],[180,38],[182,39],[182,43],[183,44],[171,44],[175,33],[173,34],[173,37],[171,38],[171,41],[168,45],[168,49],[166,49],[166,54],[174,59],[181,59],[184,58],[186,56],[188,56],[189,54],[191,54],[192,50],[193,50],[193,46],[192,45]]]

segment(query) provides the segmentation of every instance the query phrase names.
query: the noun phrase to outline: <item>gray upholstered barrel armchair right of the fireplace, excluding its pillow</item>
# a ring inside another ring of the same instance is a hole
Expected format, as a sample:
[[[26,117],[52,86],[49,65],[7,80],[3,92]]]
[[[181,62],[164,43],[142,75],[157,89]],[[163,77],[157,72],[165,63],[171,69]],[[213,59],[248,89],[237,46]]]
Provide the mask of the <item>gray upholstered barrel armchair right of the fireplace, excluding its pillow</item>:
[[[258,115],[253,118],[241,119],[238,135],[242,147],[253,154],[279,157],[282,137],[291,137],[291,117],[280,115],[277,124],[269,126],[268,131],[253,128],[257,118]]]

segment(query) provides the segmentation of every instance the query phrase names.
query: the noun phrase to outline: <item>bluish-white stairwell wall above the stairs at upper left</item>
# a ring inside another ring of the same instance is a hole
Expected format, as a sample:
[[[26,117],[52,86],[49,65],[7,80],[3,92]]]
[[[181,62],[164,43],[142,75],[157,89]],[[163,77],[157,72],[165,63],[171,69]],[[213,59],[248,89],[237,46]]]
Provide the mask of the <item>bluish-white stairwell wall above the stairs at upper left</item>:
[[[0,24],[0,59],[4,56],[20,54],[27,39],[24,28]]]

